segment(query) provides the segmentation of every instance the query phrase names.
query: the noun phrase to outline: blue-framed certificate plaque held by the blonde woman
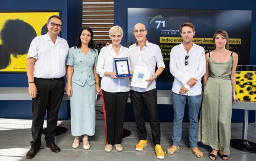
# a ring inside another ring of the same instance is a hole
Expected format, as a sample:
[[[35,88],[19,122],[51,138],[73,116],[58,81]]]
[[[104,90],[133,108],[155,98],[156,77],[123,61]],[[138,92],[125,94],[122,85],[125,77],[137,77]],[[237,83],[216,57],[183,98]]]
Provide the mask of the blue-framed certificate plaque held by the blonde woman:
[[[128,58],[114,58],[114,69],[116,77],[129,77],[129,63]]]

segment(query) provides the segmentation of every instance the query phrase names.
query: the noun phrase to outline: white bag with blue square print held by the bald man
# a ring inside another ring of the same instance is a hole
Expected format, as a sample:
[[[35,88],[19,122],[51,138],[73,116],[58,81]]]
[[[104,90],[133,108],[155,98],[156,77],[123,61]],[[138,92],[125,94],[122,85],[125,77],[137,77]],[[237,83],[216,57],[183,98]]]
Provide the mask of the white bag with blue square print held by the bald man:
[[[134,73],[132,73],[132,87],[147,88],[148,87],[148,78],[150,78],[150,69],[141,65],[136,65]]]

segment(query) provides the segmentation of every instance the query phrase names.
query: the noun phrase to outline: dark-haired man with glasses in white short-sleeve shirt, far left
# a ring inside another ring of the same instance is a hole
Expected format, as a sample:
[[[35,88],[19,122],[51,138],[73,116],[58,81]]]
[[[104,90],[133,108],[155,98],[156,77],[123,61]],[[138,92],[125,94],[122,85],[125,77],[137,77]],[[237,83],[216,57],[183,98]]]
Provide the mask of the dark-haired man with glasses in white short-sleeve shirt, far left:
[[[64,94],[64,75],[69,45],[58,37],[62,20],[53,15],[48,18],[48,32],[35,37],[30,44],[27,56],[28,91],[32,97],[32,136],[31,149],[27,159],[33,158],[39,151],[43,130],[44,115],[47,111],[47,131],[44,139],[46,147],[53,152],[60,152],[54,142],[57,117]]]

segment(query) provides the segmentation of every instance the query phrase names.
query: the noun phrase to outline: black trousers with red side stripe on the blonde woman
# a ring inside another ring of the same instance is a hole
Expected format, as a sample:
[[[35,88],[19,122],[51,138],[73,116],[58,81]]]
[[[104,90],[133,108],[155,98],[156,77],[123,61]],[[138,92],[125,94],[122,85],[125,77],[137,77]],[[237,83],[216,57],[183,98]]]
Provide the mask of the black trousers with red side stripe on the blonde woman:
[[[111,93],[101,90],[101,94],[105,119],[105,143],[120,144],[129,91]]]

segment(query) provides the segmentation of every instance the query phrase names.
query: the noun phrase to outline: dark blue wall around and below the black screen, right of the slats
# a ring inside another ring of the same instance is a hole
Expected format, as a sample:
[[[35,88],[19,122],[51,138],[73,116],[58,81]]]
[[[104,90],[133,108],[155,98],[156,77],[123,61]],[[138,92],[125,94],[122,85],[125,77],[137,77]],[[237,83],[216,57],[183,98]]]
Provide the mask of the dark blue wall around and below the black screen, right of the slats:
[[[114,25],[119,25],[124,29],[124,38],[122,38],[122,45],[127,46],[127,8],[170,8],[170,9],[234,9],[234,10],[252,10],[252,28],[251,28],[251,55],[250,64],[256,65],[256,7],[252,0],[225,0],[225,1],[202,1],[202,0],[115,0],[114,1]],[[242,32],[242,31],[241,31]],[[150,34],[150,33],[148,33]],[[242,53],[240,53],[242,55]],[[168,70],[168,69],[166,69]],[[157,89],[171,90],[171,82],[157,82]],[[159,105],[159,117],[161,121],[172,121],[173,110],[170,106]],[[168,108],[169,107],[169,108]],[[127,108],[126,119],[132,121],[131,108]],[[242,110],[233,110],[232,122],[242,121]],[[170,118],[170,119],[168,119]],[[184,117],[184,121],[187,121]],[[255,121],[255,111],[249,112],[249,121]]]

